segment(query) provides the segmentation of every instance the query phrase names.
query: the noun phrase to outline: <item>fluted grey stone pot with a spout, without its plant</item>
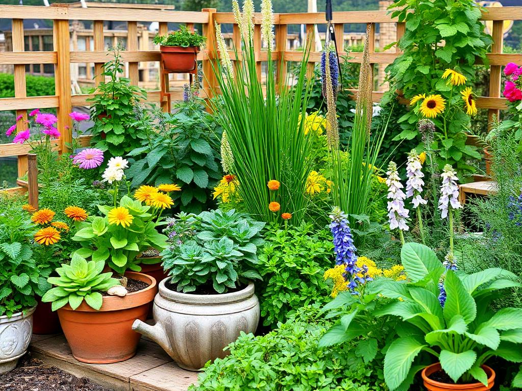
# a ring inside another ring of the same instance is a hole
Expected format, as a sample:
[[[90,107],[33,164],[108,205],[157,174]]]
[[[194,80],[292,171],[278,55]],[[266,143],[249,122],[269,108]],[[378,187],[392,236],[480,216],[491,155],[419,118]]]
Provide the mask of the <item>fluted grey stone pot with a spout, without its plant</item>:
[[[191,295],[159,285],[151,326],[136,320],[133,329],[155,340],[181,368],[198,371],[208,360],[223,358],[223,349],[240,332],[254,333],[259,323],[259,300],[254,284],[222,295]]]

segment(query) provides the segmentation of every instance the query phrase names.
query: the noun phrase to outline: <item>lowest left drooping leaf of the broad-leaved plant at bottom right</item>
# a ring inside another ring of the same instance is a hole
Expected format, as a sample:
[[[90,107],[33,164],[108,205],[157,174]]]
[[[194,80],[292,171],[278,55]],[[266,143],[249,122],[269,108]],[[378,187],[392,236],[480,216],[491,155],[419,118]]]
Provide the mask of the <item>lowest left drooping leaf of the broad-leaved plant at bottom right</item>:
[[[398,338],[390,345],[384,358],[384,379],[390,390],[406,380],[413,360],[424,347],[426,345],[411,337]]]

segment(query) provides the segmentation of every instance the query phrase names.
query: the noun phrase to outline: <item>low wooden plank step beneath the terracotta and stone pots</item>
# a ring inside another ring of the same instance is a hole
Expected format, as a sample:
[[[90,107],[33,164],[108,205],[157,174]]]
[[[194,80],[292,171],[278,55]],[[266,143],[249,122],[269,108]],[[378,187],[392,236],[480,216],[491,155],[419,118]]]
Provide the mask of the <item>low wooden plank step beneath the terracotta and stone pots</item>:
[[[197,372],[181,369],[161,347],[145,338],[140,339],[136,356],[114,364],[77,361],[63,335],[33,335],[29,349],[46,364],[114,391],[186,391],[197,381]]]

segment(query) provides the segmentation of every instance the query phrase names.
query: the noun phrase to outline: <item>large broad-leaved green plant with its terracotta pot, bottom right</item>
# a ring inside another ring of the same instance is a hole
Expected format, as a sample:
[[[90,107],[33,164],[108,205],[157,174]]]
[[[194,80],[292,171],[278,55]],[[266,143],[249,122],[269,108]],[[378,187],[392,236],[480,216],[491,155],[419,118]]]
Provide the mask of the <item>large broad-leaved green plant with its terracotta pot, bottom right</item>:
[[[403,332],[389,345],[384,361],[390,390],[406,389],[420,370],[428,390],[488,390],[495,379],[486,365],[491,357],[522,362],[522,309],[494,311],[489,305],[497,290],[521,286],[513,273],[500,268],[470,275],[446,270],[419,243],[406,243],[401,260],[407,281],[373,284],[375,292],[396,299],[375,314],[402,319],[398,329]],[[437,362],[422,365],[418,356],[423,351]]]

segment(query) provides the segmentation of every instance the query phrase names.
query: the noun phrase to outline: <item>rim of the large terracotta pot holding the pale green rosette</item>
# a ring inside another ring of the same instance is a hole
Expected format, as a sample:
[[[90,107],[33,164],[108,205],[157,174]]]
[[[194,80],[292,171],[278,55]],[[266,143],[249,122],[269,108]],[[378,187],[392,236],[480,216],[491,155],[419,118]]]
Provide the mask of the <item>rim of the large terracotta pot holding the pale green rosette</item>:
[[[139,306],[143,306],[152,300],[154,300],[154,296],[156,296],[156,278],[149,276],[144,273],[137,272],[125,272],[125,276],[131,277],[134,279],[139,279],[140,281],[144,281],[149,283],[150,285],[142,290],[138,290],[137,292],[129,293],[123,297],[121,296],[103,296],[103,304],[99,311],[91,308],[88,304],[83,301],[80,306],[73,310],[70,308],[69,304],[65,304],[64,307],[60,308],[58,311],[82,311],[82,312],[108,312],[108,311],[120,311],[129,308],[135,308]]]

